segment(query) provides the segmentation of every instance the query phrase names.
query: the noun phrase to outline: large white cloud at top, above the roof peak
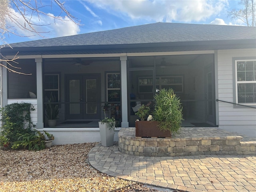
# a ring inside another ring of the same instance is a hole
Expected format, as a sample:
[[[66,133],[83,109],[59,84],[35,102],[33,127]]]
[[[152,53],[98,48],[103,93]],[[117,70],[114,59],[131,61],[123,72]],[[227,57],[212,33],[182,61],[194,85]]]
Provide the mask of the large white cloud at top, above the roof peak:
[[[227,0],[94,0],[88,3],[111,14],[156,22],[192,22],[218,15]]]

